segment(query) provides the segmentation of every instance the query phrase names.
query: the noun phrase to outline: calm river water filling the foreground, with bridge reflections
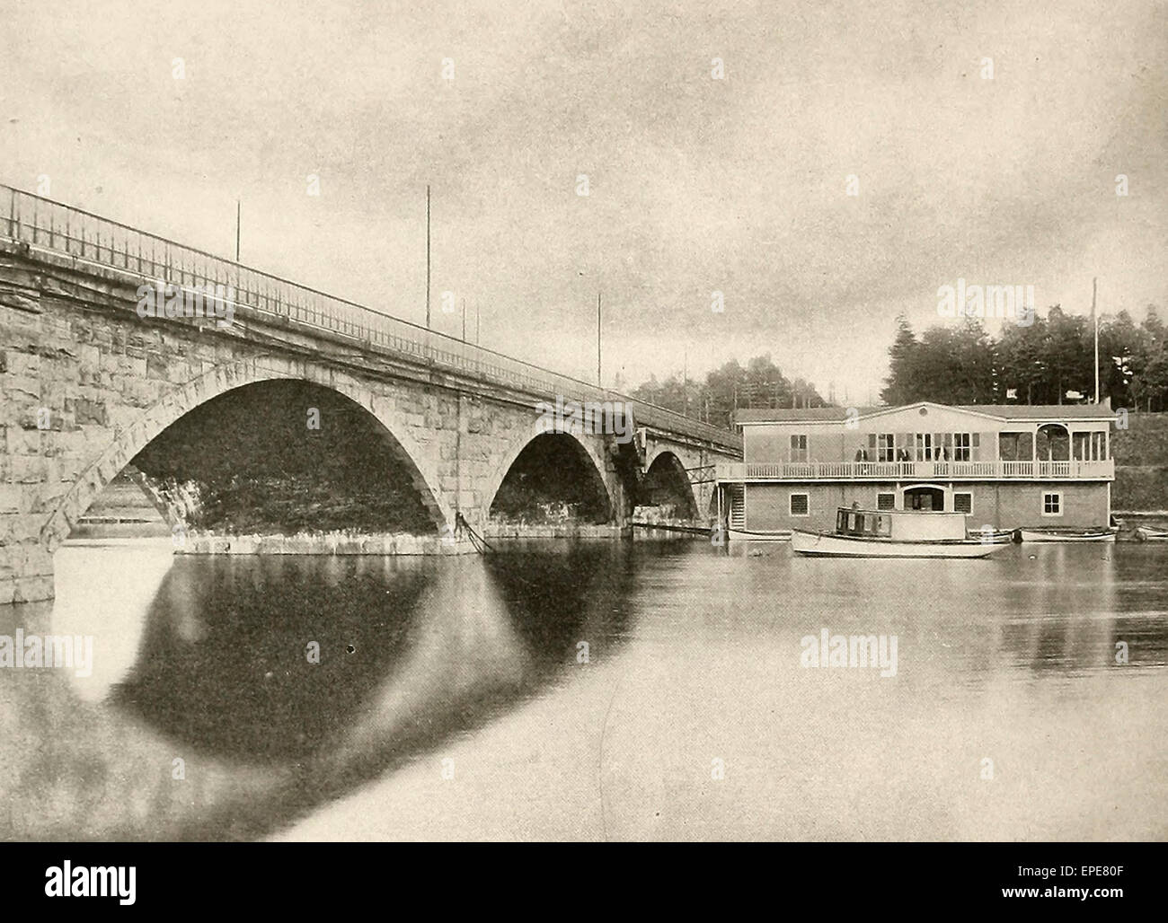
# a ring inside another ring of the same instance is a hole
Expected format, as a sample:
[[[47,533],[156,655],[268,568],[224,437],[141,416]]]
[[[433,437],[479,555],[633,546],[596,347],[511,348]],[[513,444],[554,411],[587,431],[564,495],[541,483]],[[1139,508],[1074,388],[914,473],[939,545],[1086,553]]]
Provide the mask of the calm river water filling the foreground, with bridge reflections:
[[[5,838],[1168,839],[1168,546],[56,567],[0,635],[92,670],[0,670]]]

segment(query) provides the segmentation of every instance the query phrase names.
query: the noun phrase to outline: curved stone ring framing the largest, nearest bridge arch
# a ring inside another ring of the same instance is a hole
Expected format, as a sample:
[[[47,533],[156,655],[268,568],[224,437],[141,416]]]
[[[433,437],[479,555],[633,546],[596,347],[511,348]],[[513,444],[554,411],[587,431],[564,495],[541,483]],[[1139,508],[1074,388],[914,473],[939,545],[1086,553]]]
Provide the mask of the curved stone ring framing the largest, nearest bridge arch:
[[[343,394],[364,408],[384,429],[390,448],[409,471],[436,529],[444,525],[454,527],[449,504],[433,487],[440,483],[438,474],[410,438],[404,419],[392,408],[391,401],[377,400],[377,394],[368,384],[334,368],[311,361],[265,356],[216,365],[164,394],[128,426],[114,429],[113,440],[81,473],[41,527],[42,546],[50,554],[55,552],[105,485],[171,424],[228,391],[276,379],[310,382]]]

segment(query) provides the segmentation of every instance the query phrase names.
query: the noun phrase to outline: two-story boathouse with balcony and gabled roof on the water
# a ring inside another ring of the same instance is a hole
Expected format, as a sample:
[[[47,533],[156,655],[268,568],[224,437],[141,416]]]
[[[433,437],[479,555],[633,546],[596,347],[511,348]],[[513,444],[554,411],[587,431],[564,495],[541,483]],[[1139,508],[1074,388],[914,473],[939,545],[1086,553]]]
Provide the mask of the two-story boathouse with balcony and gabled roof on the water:
[[[962,512],[971,529],[1111,519],[1115,417],[1099,405],[744,410],[743,462],[717,466],[731,536],[830,530],[836,510]]]

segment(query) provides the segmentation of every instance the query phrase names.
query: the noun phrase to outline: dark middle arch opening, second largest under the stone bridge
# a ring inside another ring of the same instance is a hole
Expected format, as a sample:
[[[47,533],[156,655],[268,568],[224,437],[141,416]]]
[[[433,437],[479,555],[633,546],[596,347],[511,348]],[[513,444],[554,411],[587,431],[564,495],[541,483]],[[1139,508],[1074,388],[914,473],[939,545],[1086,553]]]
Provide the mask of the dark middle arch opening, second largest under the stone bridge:
[[[502,522],[602,524],[613,513],[604,478],[579,440],[541,433],[510,463],[488,515]]]

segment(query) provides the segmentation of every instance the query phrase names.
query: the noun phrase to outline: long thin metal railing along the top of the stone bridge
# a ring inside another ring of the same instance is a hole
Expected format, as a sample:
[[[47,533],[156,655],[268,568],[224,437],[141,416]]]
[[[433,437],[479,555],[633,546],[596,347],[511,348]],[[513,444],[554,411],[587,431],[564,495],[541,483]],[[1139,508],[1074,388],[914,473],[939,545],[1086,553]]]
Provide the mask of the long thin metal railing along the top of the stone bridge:
[[[110,218],[0,184],[0,233],[32,247],[120,270],[148,281],[180,286],[231,286],[235,303],[273,317],[364,341],[370,348],[470,373],[533,394],[565,400],[620,401],[638,426],[704,439],[741,452],[729,429],[559,375],[486,347],[429,330],[354,301],[260,272],[202,250],[167,240]]]

